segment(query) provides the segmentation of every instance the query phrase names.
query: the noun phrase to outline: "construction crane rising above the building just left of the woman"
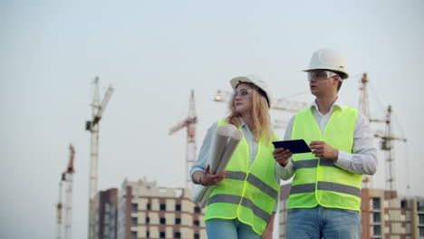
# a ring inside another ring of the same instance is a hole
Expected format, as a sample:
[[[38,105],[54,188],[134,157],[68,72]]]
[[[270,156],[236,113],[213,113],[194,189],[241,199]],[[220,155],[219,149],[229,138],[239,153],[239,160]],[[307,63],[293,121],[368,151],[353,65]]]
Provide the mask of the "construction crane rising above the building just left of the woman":
[[[196,160],[196,123],[198,117],[195,110],[194,91],[191,90],[188,117],[179,122],[176,126],[169,129],[169,135],[177,132],[179,129],[187,128],[187,151],[186,151],[186,188],[193,189],[191,178],[188,176],[190,168]]]

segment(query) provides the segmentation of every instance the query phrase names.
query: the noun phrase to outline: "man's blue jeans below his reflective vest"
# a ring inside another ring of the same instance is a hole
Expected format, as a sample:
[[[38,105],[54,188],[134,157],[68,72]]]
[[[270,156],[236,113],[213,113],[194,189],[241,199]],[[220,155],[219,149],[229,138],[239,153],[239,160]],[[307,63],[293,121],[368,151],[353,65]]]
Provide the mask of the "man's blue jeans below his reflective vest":
[[[287,239],[360,239],[358,211],[315,206],[287,210]]]

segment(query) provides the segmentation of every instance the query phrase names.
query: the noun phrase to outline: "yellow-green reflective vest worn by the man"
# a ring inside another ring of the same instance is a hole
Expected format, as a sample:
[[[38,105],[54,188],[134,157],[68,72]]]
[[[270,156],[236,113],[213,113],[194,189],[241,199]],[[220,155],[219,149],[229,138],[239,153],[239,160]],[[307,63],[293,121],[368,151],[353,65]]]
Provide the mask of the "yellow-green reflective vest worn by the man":
[[[292,139],[304,139],[307,144],[323,140],[332,148],[352,153],[357,112],[347,106],[337,108],[322,133],[311,108],[301,110],[294,119]],[[316,158],[312,153],[294,154],[293,161],[288,208],[321,205],[360,211],[361,174],[343,170],[334,165],[334,160]]]

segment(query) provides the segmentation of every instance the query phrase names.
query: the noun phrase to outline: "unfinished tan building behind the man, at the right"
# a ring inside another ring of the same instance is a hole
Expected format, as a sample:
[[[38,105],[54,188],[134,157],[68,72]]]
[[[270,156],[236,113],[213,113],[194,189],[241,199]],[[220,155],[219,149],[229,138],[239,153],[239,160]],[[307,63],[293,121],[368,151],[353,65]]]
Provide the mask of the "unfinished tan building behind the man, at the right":
[[[279,238],[285,237],[287,202],[291,185],[281,186]],[[424,238],[424,198],[398,198],[394,191],[362,188],[362,239]]]

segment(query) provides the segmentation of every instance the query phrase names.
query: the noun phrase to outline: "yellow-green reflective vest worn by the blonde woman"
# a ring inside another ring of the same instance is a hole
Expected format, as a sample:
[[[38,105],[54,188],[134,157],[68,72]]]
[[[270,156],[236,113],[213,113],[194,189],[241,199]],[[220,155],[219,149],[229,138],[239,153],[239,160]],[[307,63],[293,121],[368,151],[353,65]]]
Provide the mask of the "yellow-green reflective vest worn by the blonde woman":
[[[226,121],[218,122],[223,124]],[[226,177],[208,198],[205,221],[238,218],[251,225],[256,234],[264,233],[280,191],[280,184],[275,181],[273,150],[271,142],[265,144],[261,138],[255,161],[249,167],[247,141],[245,137],[241,139],[226,166]]]

